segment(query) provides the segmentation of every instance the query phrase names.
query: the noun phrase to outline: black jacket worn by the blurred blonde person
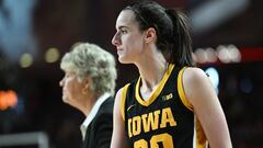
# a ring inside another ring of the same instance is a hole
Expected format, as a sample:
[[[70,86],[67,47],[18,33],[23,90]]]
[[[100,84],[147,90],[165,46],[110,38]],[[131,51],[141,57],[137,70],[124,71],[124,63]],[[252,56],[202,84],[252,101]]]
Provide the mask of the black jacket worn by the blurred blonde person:
[[[85,132],[82,148],[110,148],[113,132],[112,96],[103,102]]]

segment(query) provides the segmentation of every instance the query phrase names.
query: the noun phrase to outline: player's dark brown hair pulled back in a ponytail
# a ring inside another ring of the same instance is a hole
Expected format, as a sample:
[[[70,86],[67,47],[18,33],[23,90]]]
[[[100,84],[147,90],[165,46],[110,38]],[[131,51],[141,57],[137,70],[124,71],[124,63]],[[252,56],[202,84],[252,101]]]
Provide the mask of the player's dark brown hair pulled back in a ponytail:
[[[132,10],[141,31],[153,27],[157,47],[167,60],[176,66],[195,66],[187,16],[175,9],[164,9],[155,1],[137,1],[124,10]]]

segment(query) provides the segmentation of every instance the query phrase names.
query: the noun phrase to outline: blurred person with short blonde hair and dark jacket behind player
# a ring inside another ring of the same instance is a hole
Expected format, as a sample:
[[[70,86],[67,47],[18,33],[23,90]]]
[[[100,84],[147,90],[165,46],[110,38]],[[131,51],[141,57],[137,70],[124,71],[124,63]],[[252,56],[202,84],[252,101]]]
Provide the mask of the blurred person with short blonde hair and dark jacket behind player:
[[[60,68],[62,101],[85,115],[82,148],[108,148],[117,77],[114,56],[95,44],[79,43],[64,55]]]

